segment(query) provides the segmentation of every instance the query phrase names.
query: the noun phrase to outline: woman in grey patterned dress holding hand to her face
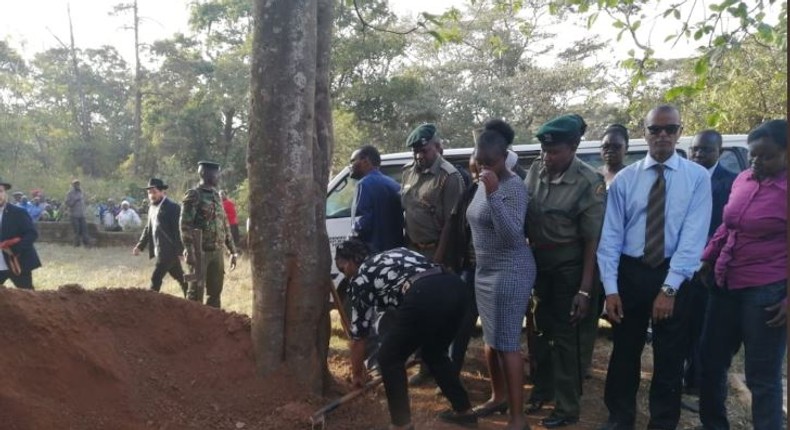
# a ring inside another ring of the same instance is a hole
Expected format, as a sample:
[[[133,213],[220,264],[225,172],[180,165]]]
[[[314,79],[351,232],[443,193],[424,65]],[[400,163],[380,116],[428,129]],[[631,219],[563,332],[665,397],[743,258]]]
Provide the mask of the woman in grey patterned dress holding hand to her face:
[[[529,428],[523,412],[521,328],[535,283],[535,260],[524,238],[527,189],[505,166],[513,129],[489,120],[477,140],[480,183],[467,218],[477,259],[475,294],[488,370],[491,398],[476,408],[478,416],[510,409],[508,430]]]

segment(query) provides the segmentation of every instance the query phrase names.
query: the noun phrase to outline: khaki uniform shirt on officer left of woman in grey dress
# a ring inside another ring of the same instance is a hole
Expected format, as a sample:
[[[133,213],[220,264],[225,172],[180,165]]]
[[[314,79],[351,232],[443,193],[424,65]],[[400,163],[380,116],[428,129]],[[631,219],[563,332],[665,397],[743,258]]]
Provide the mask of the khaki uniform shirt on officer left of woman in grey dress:
[[[463,179],[458,170],[441,156],[433,165],[417,171],[412,161],[403,170],[401,204],[405,212],[406,234],[412,243],[428,245],[439,242],[453,208],[463,193]]]

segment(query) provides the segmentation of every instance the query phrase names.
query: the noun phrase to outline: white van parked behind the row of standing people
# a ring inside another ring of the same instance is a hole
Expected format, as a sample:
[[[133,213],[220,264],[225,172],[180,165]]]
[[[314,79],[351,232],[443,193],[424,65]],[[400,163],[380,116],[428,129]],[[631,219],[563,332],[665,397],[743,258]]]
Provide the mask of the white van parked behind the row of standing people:
[[[682,137],[677,145],[678,153],[686,157],[686,152],[691,144],[692,137]],[[724,151],[719,163],[726,169],[739,173],[749,165],[746,135],[723,136]],[[603,165],[600,152],[601,142],[583,141],[576,151],[576,155],[593,167]],[[512,148],[519,156],[519,164],[528,170],[532,162],[540,156],[540,144],[514,145]],[[444,158],[454,165],[467,166],[473,148],[445,149]],[[628,154],[625,163],[631,164],[647,155],[647,142],[644,139],[633,139],[628,142]],[[403,166],[411,162],[411,152],[384,154],[381,156],[381,172],[401,181]],[[351,203],[356,194],[357,181],[351,179],[349,167],[343,168],[331,181],[326,198],[326,230],[329,233],[329,243],[332,248],[334,261],[335,246],[346,240],[351,235]],[[339,273],[332,264],[332,279],[339,281]]]

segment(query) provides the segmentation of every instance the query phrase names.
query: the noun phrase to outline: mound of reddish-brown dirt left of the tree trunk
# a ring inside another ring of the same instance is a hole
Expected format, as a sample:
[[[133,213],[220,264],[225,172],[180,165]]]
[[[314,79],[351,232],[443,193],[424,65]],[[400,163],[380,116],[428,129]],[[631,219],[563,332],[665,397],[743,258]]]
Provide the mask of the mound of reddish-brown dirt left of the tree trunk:
[[[0,327],[3,429],[309,428],[321,403],[256,376],[248,317],[165,294],[0,288]]]

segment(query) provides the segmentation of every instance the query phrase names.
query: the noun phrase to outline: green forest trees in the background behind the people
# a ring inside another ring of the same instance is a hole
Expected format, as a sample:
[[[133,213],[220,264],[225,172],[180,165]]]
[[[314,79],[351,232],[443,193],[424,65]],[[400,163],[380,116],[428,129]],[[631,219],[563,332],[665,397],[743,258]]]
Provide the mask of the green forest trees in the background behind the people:
[[[426,121],[439,124],[447,147],[465,147],[489,117],[505,118],[516,143],[530,143],[542,122],[567,112],[586,119],[588,139],[611,123],[641,137],[645,112],[667,101],[681,107],[686,134],[746,133],[787,116],[786,2],[768,2],[775,16],[765,15],[765,2],[710,10],[703,2],[700,20],[682,9],[688,1],[611,2],[609,38],[581,26],[570,39],[557,34],[563,23],[592,26],[604,12],[585,9],[594,2],[561,3],[465,0],[413,17],[396,15],[387,1],[338,0],[333,172],[363,144],[402,151],[409,130]],[[103,200],[143,198],[139,187],[156,176],[178,196],[195,182],[196,162],[211,159],[222,164],[222,187],[244,216],[251,2],[191,2],[189,30],[153,43],[139,42],[146,24],[136,2],[100,7],[126,20],[135,61],[109,45],[81,48],[68,34],[52,33],[58,46],[39,52],[0,40],[3,179],[62,198],[79,177]],[[722,31],[725,17],[741,25]],[[656,27],[674,29],[658,41],[662,50],[650,39]],[[634,49],[614,55],[612,41],[622,38]],[[700,48],[686,58],[657,54],[681,39]]]

